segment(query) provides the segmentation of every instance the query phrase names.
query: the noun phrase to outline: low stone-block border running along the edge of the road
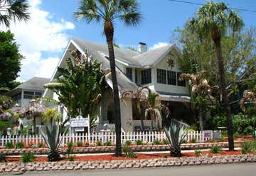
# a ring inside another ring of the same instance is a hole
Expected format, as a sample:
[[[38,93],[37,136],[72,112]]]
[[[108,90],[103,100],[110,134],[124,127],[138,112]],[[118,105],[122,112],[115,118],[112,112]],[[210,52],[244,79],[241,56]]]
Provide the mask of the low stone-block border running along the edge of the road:
[[[113,157],[113,156],[112,156]],[[141,156],[139,156],[141,157]],[[94,170],[94,169],[122,169],[139,167],[170,167],[181,165],[213,165],[227,163],[256,162],[256,154],[247,155],[214,155],[209,157],[183,157],[183,158],[154,158],[136,160],[87,160],[74,162],[35,162],[35,163],[3,163],[0,172],[25,172],[41,170]]]

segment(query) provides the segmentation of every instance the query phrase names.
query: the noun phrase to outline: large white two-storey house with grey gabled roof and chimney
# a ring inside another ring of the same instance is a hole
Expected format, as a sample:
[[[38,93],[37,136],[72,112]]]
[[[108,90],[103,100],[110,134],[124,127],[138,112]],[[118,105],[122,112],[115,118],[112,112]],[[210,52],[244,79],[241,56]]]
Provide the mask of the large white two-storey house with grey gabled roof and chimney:
[[[107,45],[73,38],[68,43],[58,67],[66,67],[65,59],[70,57],[68,50],[79,50],[83,55],[88,53],[98,62],[102,62],[103,69],[110,68]],[[181,75],[177,61],[180,51],[176,45],[166,45],[147,51],[146,44],[139,43],[138,52],[114,48],[114,55],[118,72],[119,94],[127,90],[136,91],[139,86],[146,85],[160,94],[160,100],[169,106],[171,116],[185,119],[187,116],[189,118],[189,113],[186,112],[186,106],[190,102],[188,85],[185,81],[178,79]],[[57,76],[56,69],[50,81],[53,82]],[[111,79],[108,79],[107,83],[112,87]],[[46,89],[44,97],[58,99],[58,96],[50,89]],[[114,123],[112,91],[105,92],[102,97],[98,115],[100,126],[104,123]],[[132,99],[120,100],[123,131],[134,131],[135,126],[141,126],[139,118],[134,116],[132,104]],[[46,106],[52,106],[52,104],[46,103]],[[65,119],[65,111],[63,109],[60,111]],[[145,120],[144,124],[151,126],[151,121]],[[156,126],[154,127],[156,128]]]

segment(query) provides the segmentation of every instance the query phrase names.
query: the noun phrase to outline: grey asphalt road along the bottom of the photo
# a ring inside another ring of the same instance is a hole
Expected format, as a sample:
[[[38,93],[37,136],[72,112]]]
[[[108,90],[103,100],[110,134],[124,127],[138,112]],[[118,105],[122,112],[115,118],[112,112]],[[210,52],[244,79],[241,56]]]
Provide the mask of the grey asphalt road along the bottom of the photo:
[[[127,169],[127,170],[74,170],[74,171],[46,171],[46,172],[26,172],[23,175],[36,176],[250,176],[256,175],[256,164],[235,164],[235,165],[200,165],[200,166],[181,166],[181,167],[154,167],[144,169]]]

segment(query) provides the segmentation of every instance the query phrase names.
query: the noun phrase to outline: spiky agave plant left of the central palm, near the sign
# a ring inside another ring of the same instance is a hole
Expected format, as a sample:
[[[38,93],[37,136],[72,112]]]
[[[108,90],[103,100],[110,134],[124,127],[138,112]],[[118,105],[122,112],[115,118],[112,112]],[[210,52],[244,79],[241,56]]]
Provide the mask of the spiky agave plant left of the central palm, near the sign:
[[[60,159],[60,154],[58,153],[58,147],[60,144],[60,127],[54,123],[48,123],[46,126],[40,128],[43,139],[49,148],[48,160],[57,161]]]

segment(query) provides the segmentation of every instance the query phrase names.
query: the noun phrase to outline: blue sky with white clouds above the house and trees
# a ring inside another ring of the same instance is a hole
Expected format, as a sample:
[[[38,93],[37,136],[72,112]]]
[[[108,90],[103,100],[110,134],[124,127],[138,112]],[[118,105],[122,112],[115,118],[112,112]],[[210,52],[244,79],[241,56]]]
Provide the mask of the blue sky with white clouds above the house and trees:
[[[187,0],[203,4],[204,0]],[[25,81],[34,75],[50,77],[65,45],[71,37],[105,43],[102,24],[78,21],[73,13],[77,11],[78,0],[28,0],[33,18],[28,23],[16,23],[11,31],[21,45],[21,53],[26,57],[18,80]],[[234,8],[256,11],[255,0],[226,0]],[[169,43],[172,31],[182,28],[199,6],[181,4],[169,0],[139,0],[144,16],[137,28],[127,28],[115,23],[114,40],[121,47],[147,43],[149,48]],[[256,13],[239,11],[245,27],[256,26]],[[1,27],[0,27],[1,28]],[[31,68],[33,67],[33,68]]]

